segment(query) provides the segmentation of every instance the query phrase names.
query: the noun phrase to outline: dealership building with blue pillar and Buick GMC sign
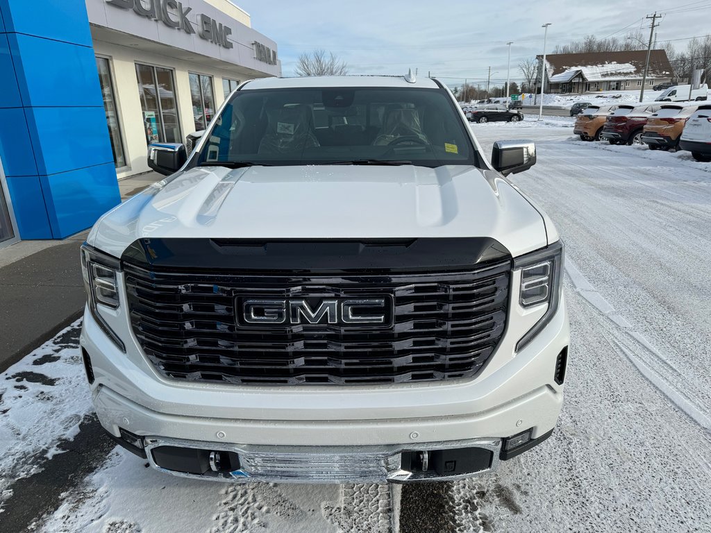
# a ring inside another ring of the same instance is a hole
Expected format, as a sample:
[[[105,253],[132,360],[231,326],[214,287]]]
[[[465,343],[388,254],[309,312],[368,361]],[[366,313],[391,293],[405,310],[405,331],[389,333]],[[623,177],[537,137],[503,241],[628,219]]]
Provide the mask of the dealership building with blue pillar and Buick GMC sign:
[[[90,227],[149,171],[149,143],[279,75],[230,0],[0,0],[0,247]]]

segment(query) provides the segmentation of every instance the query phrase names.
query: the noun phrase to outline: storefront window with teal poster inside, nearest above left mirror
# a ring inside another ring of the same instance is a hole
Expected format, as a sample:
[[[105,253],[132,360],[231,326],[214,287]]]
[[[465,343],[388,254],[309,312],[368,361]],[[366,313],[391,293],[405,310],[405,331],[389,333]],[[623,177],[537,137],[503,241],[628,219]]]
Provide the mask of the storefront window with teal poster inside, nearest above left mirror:
[[[173,71],[136,63],[146,141],[181,142]]]

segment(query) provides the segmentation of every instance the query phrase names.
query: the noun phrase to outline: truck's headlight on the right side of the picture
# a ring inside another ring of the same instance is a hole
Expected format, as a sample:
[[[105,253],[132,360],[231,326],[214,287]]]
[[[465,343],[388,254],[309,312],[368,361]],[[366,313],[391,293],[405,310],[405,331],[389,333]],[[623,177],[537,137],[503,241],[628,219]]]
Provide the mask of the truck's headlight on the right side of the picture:
[[[537,250],[513,261],[513,269],[520,270],[521,281],[518,291],[518,303],[523,308],[547,303],[545,314],[533,328],[520,338],[516,351],[521,350],[545,328],[555,316],[560,302],[563,271],[563,242],[558,241],[549,247]]]

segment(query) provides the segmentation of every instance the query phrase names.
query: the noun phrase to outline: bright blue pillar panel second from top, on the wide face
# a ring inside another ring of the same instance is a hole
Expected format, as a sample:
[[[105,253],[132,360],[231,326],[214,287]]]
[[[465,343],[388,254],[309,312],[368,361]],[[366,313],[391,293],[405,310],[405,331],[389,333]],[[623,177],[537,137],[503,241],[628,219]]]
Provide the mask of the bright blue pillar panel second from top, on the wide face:
[[[26,106],[102,106],[93,48],[8,33]]]

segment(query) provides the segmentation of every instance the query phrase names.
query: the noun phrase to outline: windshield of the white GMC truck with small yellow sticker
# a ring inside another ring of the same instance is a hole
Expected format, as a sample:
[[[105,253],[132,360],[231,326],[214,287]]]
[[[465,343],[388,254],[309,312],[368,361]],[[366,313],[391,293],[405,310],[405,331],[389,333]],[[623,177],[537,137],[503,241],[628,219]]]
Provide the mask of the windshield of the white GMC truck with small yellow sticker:
[[[198,165],[476,165],[444,90],[308,88],[235,92]]]

